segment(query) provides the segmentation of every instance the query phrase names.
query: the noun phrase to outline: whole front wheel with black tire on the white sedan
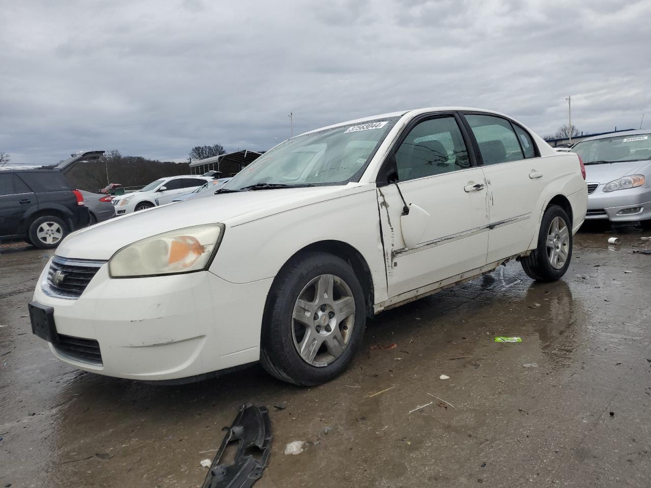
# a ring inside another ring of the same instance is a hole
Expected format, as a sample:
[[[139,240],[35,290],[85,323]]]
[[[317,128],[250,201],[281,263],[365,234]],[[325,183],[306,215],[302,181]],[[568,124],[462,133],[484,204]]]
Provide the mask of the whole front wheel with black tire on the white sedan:
[[[332,293],[327,297],[318,293],[329,288]],[[364,291],[352,267],[325,252],[302,254],[286,264],[271,285],[260,363],[288,383],[326,383],[352,362],[363,340],[366,318]]]

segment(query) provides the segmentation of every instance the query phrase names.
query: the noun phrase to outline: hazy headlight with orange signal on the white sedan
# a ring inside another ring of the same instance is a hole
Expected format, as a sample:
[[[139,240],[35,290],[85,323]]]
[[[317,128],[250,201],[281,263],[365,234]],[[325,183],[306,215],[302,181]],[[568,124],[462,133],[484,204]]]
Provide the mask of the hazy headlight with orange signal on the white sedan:
[[[223,224],[210,224],[147,237],[113,254],[109,273],[113,278],[127,278],[201,271],[210,263],[223,234]]]

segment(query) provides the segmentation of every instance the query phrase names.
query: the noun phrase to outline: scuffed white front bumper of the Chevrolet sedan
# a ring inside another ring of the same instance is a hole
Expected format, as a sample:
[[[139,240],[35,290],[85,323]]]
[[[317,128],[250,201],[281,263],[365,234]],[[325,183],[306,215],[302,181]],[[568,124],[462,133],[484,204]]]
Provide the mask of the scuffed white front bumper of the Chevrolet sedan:
[[[53,354],[81,370],[141,380],[174,380],[255,362],[264,302],[273,278],[232,284],[208,271],[110,278],[104,264],[77,299],[46,295],[59,334],[99,344],[101,361]]]

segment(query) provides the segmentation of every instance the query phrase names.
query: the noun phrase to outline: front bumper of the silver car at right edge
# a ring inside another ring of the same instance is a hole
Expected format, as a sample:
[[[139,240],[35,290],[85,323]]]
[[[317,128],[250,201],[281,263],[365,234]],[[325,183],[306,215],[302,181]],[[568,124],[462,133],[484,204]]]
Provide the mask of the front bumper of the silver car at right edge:
[[[603,193],[599,185],[588,195],[587,220],[609,220],[611,222],[637,222],[651,219],[651,187],[637,187]],[[624,212],[639,208],[632,213]]]

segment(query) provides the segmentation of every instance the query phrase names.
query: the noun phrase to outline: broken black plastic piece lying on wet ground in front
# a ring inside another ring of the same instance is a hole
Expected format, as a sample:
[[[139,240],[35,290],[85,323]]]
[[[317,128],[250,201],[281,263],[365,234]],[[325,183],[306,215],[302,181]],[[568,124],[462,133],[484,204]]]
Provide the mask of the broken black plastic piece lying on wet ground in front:
[[[233,421],[210,465],[202,488],[250,488],[267,465],[271,449],[271,420],[266,407],[246,403]],[[219,464],[230,442],[238,444],[235,460]]]

